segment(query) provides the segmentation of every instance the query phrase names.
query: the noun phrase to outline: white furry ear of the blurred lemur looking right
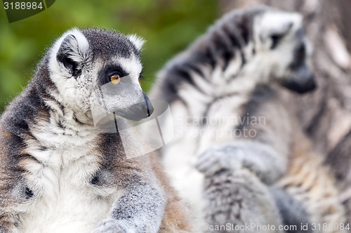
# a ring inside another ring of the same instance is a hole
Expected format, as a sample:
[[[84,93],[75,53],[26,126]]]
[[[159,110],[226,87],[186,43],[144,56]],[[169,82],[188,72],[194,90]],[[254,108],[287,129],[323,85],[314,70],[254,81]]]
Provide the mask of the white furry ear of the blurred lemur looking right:
[[[302,16],[298,13],[270,12],[256,20],[256,34],[262,44],[270,43],[274,49],[279,40],[292,31],[293,27],[301,27]]]

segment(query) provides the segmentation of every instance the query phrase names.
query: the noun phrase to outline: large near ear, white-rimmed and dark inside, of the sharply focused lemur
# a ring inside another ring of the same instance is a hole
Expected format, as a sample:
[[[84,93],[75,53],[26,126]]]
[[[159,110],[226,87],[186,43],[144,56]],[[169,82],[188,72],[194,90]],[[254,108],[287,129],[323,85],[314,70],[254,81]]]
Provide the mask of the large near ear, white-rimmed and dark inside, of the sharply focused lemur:
[[[69,74],[77,77],[81,74],[81,68],[88,59],[88,41],[78,29],[67,32],[62,38],[56,59],[68,70]]]

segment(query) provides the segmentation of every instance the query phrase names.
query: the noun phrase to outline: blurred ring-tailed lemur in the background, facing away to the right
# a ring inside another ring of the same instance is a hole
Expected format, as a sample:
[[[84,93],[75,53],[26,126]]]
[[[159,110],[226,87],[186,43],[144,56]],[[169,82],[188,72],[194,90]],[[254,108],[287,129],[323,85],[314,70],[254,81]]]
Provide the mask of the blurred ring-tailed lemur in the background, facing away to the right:
[[[204,229],[342,223],[333,179],[276,91],[315,88],[309,55],[302,17],[260,6],[225,15],[159,72],[150,96],[176,123],[166,171]]]

